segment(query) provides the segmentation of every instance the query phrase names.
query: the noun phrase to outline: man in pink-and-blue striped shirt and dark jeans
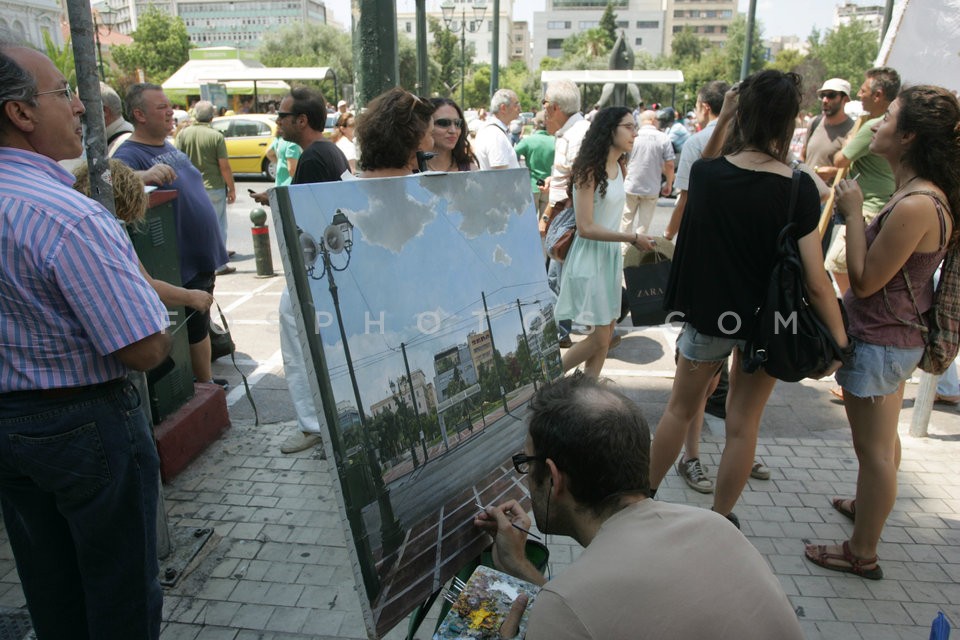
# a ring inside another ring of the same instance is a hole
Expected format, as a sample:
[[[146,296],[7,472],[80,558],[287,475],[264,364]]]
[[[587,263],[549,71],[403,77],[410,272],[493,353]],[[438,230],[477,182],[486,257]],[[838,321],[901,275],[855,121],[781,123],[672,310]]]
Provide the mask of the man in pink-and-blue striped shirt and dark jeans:
[[[40,638],[156,639],[159,461],[129,369],[166,310],[115,218],[57,165],[84,108],[0,31],[0,506]]]

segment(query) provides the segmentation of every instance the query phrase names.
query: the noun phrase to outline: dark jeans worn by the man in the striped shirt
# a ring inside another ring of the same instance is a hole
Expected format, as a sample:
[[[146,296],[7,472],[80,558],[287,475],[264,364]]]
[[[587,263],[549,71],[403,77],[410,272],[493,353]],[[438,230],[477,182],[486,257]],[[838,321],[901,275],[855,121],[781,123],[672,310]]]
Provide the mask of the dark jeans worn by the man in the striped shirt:
[[[0,397],[0,503],[39,640],[156,640],[159,458],[128,382]]]

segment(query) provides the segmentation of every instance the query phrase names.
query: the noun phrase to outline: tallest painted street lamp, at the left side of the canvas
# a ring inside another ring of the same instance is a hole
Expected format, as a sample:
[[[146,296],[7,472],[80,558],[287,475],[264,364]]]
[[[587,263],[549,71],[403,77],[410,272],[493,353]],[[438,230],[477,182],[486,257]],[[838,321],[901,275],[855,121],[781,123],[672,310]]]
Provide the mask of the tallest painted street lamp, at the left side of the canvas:
[[[332,224],[323,231],[323,238],[317,242],[309,233],[303,233],[300,236],[300,247],[303,250],[303,261],[307,267],[307,275],[313,280],[323,280],[326,276],[330,297],[333,299],[333,309],[337,314],[337,325],[340,328],[340,341],[343,343],[343,355],[347,361],[347,371],[350,373],[350,383],[353,385],[353,397],[357,403],[360,433],[363,435],[364,448],[367,450],[367,466],[377,492],[377,504],[380,507],[380,542],[383,545],[383,556],[386,557],[396,551],[403,542],[403,528],[393,514],[393,506],[390,504],[390,490],[383,482],[383,471],[370,440],[370,432],[363,411],[363,401],[360,399],[360,387],[357,384],[357,374],[353,369],[353,359],[350,357],[350,344],[347,342],[347,333],[343,327],[343,316],[340,314],[340,295],[333,276],[335,271],[345,271],[350,266],[350,253],[353,249],[353,224],[342,211],[337,209]],[[347,262],[342,267],[334,266],[330,259],[332,254],[339,253],[347,254]],[[321,258],[319,274],[316,273],[318,257]]]

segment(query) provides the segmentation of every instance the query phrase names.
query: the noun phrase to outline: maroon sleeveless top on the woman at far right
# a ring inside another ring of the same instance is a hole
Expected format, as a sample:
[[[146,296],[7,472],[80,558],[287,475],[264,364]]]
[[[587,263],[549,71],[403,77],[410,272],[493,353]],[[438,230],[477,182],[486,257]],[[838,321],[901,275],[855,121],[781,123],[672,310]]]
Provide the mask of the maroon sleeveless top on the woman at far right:
[[[926,313],[933,305],[933,274],[947,253],[946,222],[944,209],[949,210],[932,191],[911,191],[884,207],[870,226],[867,227],[867,248],[873,244],[887,216],[903,198],[923,194],[933,198],[940,218],[940,248],[930,252],[914,252],[907,258],[903,267],[893,278],[876,293],[866,298],[857,298],[853,290],[848,289],[843,296],[843,306],[847,310],[850,326],[847,332],[863,342],[870,344],[913,349],[923,347],[924,335],[915,325],[921,320],[917,311]],[[903,277],[905,271],[916,296],[916,307],[907,290]],[[884,300],[886,291],[886,301]]]

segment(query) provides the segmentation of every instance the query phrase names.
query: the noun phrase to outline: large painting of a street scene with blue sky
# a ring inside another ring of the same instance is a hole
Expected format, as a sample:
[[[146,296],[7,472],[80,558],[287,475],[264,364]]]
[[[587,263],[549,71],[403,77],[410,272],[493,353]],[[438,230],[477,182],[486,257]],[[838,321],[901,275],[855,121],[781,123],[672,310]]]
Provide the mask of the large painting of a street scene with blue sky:
[[[525,169],[281,187],[271,204],[305,363],[379,637],[525,500],[510,456],[560,375]]]

